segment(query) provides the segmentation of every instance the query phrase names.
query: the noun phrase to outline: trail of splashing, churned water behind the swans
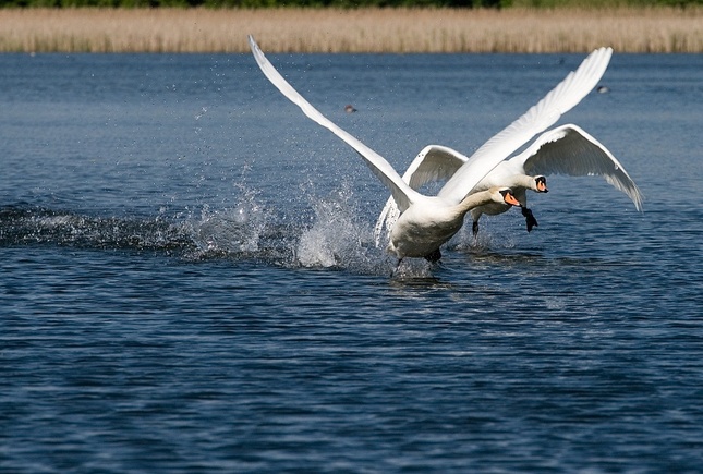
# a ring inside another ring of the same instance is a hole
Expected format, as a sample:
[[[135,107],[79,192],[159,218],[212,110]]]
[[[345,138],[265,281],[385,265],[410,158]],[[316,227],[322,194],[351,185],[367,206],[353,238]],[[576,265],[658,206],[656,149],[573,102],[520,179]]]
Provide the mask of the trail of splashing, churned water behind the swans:
[[[396,258],[376,247],[374,216],[360,209],[348,183],[323,197],[311,184],[303,186],[298,197],[310,214],[292,215],[265,206],[258,190],[238,187],[233,205],[226,208],[205,205],[180,212],[161,208],[156,217],[87,216],[26,204],[0,207],[0,246],[166,252],[189,260],[254,260],[287,268],[392,274],[399,280],[433,272],[434,267],[422,259],[405,259],[396,268]]]

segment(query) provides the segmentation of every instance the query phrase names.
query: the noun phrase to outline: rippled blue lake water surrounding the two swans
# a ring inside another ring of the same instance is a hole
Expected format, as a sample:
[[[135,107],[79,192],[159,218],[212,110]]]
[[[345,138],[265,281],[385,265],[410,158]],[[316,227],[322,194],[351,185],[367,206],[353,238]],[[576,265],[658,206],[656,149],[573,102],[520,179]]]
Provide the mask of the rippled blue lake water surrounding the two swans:
[[[271,57],[400,169],[582,59]],[[1,56],[0,471],[698,472],[703,57],[603,82],[561,122],[644,214],[550,177],[389,278],[387,193],[249,56]]]

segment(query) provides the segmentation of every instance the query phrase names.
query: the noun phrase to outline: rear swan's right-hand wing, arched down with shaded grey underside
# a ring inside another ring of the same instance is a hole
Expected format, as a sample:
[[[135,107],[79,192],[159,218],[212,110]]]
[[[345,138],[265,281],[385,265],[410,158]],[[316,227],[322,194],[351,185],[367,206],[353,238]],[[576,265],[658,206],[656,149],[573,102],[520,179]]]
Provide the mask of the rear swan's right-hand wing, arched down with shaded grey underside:
[[[543,133],[510,161],[522,161],[525,174],[603,177],[642,210],[642,193],[616,157],[581,127],[567,124]]]

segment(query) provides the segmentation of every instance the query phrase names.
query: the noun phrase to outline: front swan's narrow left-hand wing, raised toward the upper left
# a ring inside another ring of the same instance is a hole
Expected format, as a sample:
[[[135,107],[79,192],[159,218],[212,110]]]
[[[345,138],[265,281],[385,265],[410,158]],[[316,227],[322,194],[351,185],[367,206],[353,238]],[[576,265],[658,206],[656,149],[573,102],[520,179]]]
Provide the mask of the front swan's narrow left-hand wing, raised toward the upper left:
[[[376,174],[376,177],[390,190],[393,198],[398,203],[398,206],[405,210],[412,202],[416,199],[420,195],[417,192],[412,190],[403,180],[400,178],[400,174],[396,172],[393,167],[380,155],[378,155],[373,149],[368,148],[366,145],[361,143],[354,136],[343,131],[337,126],[332,121],[323,116],[317,109],[315,109],[303,96],[301,96],[289,83],[279,74],[274,65],[266,59],[264,52],[254,40],[252,35],[249,35],[249,45],[254,54],[256,63],[260,68],[262,72],[266,77],[274,84],[278,90],[281,92],[290,101],[295,104],[303,111],[307,118],[317,122],[325,129],[332,132],[335,135],[344,141],[349,146],[354,148],[354,150],[361,155],[368,168]]]

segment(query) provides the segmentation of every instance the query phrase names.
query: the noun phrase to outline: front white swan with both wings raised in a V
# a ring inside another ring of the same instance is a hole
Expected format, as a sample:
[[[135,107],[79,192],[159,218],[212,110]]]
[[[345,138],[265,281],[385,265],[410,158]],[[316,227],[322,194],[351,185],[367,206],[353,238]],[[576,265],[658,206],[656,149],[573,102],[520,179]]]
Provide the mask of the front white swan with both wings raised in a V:
[[[540,102],[488,139],[471,158],[465,158],[465,162],[456,170],[437,195],[427,196],[403,181],[384,157],[332,123],[305,100],[266,59],[252,35],[249,35],[249,44],[257,65],[271,84],[300,107],[307,118],[351,146],[390,190],[400,217],[390,231],[387,250],[398,258],[398,265],[405,257],[425,257],[429,260],[439,258],[439,247],[461,228],[465,214],[475,206],[496,199],[490,196],[490,192],[482,192],[481,196],[472,197],[470,193],[474,186],[500,161],[579,104],[596,86],[613,54],[610,48],[593,51],[577,71],[569,73]],[[506,204],[510,204],[512,194],[507,189],[498,190],[499,193],[500,191],[504,192],[501,196]]]

